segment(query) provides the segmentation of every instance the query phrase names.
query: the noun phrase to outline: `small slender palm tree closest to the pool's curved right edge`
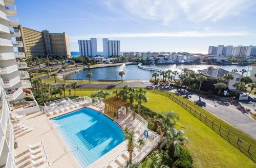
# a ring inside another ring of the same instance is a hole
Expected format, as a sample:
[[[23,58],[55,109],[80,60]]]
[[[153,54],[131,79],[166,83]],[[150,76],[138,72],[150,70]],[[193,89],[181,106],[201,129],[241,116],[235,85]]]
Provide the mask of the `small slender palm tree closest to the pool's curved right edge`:
[[[123,133],[125,139],[127,140],[127,151],[129,152],[129,161],[132,161],[132,153],[134,151],[134,142],[135,142],[135,135],[134,131],[129,130],[129,128],[125,127],[123,129]]]

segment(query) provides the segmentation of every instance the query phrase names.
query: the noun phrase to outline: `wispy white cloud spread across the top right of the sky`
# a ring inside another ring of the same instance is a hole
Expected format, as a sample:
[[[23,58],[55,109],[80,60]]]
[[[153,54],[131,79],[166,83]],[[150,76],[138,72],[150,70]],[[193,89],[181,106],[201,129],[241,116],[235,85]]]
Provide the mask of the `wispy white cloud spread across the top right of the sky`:
[[[255,0],[108,0],[109,9],[124,17],[158,20],[168,24],[172,20],[188,19],[199,22],[218,21],[240,15],[256,4]]]

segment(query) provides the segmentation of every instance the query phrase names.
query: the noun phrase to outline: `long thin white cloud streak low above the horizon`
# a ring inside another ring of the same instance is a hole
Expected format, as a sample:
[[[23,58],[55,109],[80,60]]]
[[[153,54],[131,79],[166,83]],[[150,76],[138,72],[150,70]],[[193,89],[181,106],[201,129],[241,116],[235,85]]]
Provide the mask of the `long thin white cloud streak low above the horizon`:
[[[91,34],[81,36],[70,36],[70,42],[77,42],[79,39],[89,38],[141,38],[141,37],[228,37],[228,36],[247,36],[247,32],[177,32],[177,33],[110,33],[110,34]]]

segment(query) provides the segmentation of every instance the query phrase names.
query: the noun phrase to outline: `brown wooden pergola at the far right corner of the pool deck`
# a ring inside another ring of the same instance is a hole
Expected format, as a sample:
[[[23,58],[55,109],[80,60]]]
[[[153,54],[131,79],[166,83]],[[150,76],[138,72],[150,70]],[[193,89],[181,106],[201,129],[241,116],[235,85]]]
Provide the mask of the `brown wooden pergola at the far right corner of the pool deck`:
[[[118,109],[122,106],[126,107],[126,114],[128,112],[129,102],[117,96],[105,99],[103,100],[103,102],[105,103],[104,114],[109,116],[112,119],[114,118],[115,113],[116,113],[116,119],[118,119]]]

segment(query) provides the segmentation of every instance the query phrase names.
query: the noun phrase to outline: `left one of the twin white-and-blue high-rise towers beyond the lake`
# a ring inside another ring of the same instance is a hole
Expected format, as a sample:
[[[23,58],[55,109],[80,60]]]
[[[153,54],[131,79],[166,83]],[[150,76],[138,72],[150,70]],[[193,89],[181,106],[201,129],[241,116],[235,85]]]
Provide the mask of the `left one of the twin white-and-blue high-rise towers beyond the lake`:
[[[90,40],[78,40],[78,45],[81,56],[95,57],[98,54],[96,38],[91,38]]]

